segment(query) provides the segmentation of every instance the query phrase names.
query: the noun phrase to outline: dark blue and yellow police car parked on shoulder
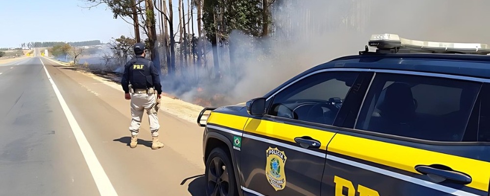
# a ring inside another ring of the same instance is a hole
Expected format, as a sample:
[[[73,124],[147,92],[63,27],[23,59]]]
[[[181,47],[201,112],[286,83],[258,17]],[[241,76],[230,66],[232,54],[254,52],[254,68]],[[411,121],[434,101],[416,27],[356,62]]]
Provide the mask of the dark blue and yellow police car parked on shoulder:
[[[207,195],[489,196],[489,46],[369,46],[202,110]]]

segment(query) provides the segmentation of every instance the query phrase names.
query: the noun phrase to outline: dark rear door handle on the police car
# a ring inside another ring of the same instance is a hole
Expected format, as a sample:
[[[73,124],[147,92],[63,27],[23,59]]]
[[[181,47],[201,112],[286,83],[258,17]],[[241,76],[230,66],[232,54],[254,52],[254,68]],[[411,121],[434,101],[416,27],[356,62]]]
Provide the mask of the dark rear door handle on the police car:
[[[415,167],[415,170],[417,170],[417,172],[420,172],[424,175],[428,175],[429,177],[431,178],[437,178],[437,179],[441,179],[441,180],[437,180],[437,181],[445,181],[445,180],[449,180],[449,181],[452,181],[452,182],[455,182],[455,183],[458,183],[458,184],[469,184],[471,183],[471,176],[465,174],[465,173],[462,173],[462,172],[458,172],[458,171],[453,171],[451,170],[449,167],[445,167],[445,166],[442,166],[443,168],[447,168],[447,169],[438,169],[438,168],[434,168],[433,166],[425,166],[425,165],[419,165],[419,166],[416,166]]]

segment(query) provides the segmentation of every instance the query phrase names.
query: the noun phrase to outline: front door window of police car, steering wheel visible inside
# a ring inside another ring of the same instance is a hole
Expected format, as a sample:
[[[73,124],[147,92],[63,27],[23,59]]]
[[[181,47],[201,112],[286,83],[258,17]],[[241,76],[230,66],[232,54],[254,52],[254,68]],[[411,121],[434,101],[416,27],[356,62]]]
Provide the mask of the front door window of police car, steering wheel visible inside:
[[[308,76],[276,94],[268,114],[331,125],[358,75],[324,72]]]

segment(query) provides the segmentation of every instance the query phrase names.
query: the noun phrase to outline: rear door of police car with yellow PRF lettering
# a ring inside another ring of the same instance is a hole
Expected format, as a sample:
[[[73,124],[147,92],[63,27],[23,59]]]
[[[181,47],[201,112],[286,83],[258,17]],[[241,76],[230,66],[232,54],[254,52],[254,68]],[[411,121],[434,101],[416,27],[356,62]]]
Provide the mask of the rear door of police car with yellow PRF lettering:
[[[355,123],[343,124],[352,129],[328,145],[322,195],[487,196],[482,83],[463,79],[376,73]]]

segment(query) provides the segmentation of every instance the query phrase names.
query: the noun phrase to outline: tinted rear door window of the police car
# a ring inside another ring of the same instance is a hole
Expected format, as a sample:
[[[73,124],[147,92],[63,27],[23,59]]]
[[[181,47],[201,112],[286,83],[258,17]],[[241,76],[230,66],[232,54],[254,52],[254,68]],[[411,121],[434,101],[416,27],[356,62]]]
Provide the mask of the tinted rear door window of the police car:
[[[356,129],[461,142],[480,87],[470,81],[377,73]]]

